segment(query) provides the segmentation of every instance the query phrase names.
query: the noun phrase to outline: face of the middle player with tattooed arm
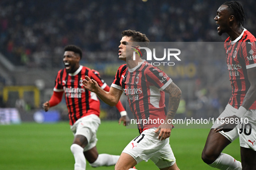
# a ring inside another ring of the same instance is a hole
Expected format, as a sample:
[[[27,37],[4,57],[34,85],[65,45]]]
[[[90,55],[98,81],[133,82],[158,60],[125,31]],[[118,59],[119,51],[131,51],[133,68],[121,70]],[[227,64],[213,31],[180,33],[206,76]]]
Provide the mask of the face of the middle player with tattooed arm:
[[[132,54],[130,54],[128,51],[131,51],[131,50],[128,50],[129,49],[129,42],[132,42],[130,40],[130,37],[127,37],[127,36],[124,36],[121,41],[120,41],[120,45],[119,45],[119,59],[120,60],[124,60],[126,61],[126,58],[128,58],[129,56],[131,56]],[[128,53],[127,53],[128,52]]]

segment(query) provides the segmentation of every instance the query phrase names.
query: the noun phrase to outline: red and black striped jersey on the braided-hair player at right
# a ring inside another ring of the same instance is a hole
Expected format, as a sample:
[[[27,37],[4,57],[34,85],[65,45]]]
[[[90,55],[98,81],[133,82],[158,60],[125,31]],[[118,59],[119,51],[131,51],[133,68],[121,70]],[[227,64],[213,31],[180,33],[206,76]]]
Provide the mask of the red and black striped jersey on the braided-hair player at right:
[[[245,94],[250,88],[246,69],[256,67],[255,42],[256,38],[244,28],[242,34],[235,41],[231,41],[229,37],[224,43],[232,87],[229,104],[237,109],[243,104]],[[256,109],[256,101],[249,109]]]

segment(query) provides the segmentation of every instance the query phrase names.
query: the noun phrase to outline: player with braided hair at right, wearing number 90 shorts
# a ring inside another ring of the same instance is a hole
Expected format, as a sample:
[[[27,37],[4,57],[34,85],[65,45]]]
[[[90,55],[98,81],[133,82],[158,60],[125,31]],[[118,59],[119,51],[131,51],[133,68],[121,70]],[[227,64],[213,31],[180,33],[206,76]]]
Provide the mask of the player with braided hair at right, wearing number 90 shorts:
[[[237,1],[222,4],[214,18],[218,35],[229,35],[224,48],[232,96],[209,132],[202,159],[221,170],[242,169],[239,161],[221,153],[238,136],[243,170],[256,169],[256,38],[243,28],[244,19],[243,7]]]

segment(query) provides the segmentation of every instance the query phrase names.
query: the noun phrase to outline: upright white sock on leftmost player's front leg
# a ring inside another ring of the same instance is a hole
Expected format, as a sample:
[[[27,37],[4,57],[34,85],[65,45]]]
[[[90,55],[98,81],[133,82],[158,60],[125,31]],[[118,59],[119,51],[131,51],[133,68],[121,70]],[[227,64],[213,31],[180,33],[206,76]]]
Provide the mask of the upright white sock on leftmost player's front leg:
[[[70,150],[75,157],[75,170],[85,170],[84,148],[77,144],[72,144]]]

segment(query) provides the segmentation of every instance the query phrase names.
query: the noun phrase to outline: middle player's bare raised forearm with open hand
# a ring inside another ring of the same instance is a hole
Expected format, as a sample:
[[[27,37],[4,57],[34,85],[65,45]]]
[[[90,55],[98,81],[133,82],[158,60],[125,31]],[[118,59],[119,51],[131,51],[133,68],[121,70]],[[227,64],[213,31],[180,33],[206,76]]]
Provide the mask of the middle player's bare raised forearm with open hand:
[[[110,87],[110,91],[104,91],[98,83],[94,79],[90,79],[90,77],[85,76],[83,79],[83,87],[91,92],[94,92],[98,95],[98,97],[104,101],[106,104],[110,106],[117,105],[123,91]]]

